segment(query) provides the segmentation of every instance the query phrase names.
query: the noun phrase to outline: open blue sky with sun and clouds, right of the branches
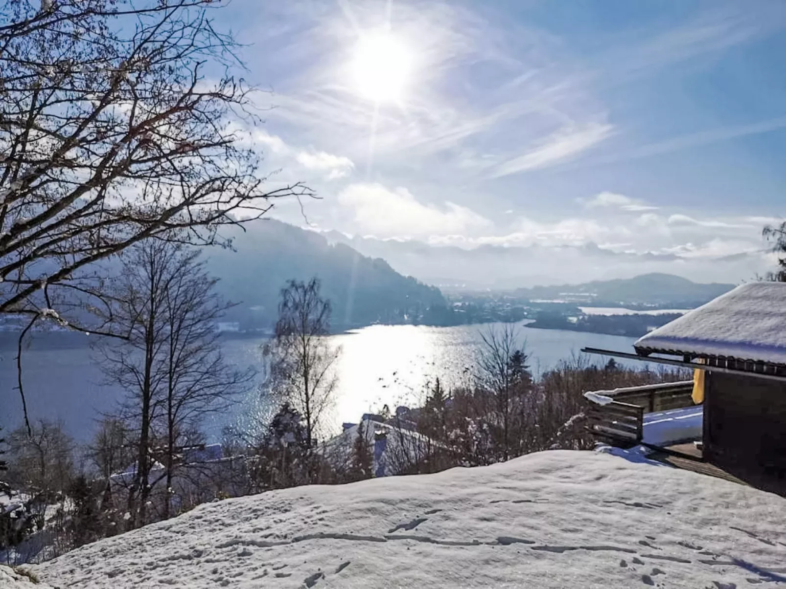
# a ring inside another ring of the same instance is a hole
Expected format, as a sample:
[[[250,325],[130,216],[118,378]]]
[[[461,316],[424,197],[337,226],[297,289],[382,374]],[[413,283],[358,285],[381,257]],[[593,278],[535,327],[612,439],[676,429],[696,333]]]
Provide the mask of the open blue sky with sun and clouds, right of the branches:
[[[271,183],[319,197],[277,218],[356,240],[599,248],[597,277],[640,269],[618,256],[729,282],[773,264],[784,2],[234,0],[216,20],[265,90],[250,137]]]

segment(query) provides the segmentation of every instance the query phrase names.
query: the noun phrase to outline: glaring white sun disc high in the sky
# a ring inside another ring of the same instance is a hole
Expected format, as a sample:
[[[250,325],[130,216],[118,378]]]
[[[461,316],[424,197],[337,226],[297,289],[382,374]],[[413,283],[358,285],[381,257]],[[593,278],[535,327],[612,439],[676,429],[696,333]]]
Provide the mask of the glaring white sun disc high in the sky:
[[[399,102],[412,74],[410,49],[389,31],[365,33],[354,47],[350,64],[352,86],[376,103]]]

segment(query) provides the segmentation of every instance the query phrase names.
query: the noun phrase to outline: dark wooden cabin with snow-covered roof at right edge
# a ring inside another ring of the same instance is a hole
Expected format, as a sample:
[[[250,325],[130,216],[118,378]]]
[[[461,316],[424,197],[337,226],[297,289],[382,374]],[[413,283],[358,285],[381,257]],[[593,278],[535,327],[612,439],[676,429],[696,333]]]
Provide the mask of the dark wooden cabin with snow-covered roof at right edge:
[[[736,287],[659,327],[635,354],[692,368],[703,404],[701,459],[751,485],[786,494],[786,284]]]

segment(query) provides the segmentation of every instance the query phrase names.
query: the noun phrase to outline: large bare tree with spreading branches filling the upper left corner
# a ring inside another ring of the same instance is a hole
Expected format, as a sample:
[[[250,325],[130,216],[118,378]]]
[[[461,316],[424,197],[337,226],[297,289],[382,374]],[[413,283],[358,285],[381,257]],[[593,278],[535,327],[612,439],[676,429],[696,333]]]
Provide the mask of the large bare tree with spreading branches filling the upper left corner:
[[[210,18],[224,4],[0,2],[0,313],[109,331],[76,310],[103,305],[94,262],[152,236],[222,243],[311,194],[267,185],[245,141],[255,91]]]

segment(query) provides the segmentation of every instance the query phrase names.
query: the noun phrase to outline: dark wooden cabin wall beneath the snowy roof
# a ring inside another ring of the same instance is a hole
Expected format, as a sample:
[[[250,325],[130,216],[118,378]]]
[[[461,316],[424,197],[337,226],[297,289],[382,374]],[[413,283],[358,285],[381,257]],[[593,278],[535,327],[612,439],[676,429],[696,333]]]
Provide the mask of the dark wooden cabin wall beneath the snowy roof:
[[[751,485],[786,492],[786,382],[708,373],[704,457]]]

